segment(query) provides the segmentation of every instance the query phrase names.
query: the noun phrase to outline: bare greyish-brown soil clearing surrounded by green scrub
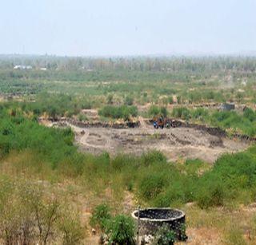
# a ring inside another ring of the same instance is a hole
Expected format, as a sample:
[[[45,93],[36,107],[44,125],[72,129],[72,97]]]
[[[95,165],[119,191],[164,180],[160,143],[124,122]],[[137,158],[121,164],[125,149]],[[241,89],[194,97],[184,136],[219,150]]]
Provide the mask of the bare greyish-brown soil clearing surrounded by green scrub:
[[[142,119],[140,120],[142,121]],[[213,135],[198,128],[155,129],[141,122],[138,128],[80,128],[70,124],[76,132],[75,140],[82,151],[110,155],[128,153],[141,155],[152,149],[160,150],[169,160],[201,159],[213,163],[225,152],[238,152],[249,142]]]

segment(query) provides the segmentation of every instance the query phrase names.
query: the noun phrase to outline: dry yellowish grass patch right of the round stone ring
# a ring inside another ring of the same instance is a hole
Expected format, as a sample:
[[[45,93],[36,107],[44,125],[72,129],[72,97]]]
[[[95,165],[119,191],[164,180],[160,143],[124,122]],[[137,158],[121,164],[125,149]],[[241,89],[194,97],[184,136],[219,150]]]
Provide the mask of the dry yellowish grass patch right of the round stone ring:
[[[256,244],[255,207],[183,209],[190,244]]]

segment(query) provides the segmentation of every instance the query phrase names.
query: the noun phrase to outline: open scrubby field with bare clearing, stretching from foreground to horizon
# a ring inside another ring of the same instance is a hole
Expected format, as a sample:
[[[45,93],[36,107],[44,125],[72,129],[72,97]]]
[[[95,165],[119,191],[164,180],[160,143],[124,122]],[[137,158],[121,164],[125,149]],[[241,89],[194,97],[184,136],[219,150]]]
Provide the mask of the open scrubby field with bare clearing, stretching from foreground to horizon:
[[[255,244],[255,77],[254,57],[0,57],[0,243],[97,244],[140,205],[185,211],[184,244]]]

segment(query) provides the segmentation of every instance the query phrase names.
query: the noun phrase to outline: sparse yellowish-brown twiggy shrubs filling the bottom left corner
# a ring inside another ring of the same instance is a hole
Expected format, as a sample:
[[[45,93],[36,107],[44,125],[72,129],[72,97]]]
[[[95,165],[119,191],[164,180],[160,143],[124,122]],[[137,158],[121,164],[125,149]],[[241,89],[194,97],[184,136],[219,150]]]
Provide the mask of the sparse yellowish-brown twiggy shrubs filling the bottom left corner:
[[[42,185],[0,179],[0,239],[5,244],[78,244],[83,238],[79,215]],[[62,208],[63,207],[63,208]],[[74,244],[74,243],[72,243]]]

